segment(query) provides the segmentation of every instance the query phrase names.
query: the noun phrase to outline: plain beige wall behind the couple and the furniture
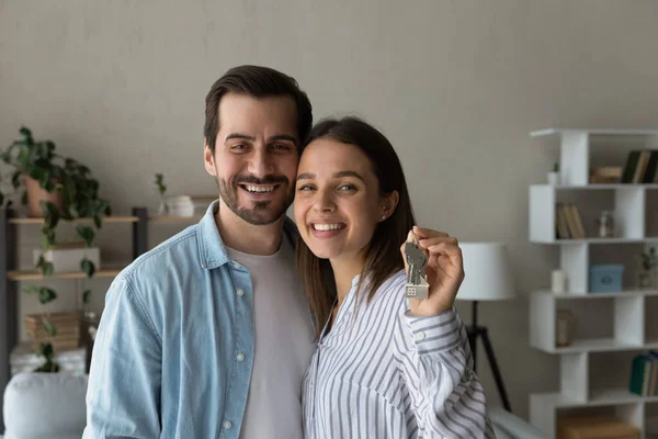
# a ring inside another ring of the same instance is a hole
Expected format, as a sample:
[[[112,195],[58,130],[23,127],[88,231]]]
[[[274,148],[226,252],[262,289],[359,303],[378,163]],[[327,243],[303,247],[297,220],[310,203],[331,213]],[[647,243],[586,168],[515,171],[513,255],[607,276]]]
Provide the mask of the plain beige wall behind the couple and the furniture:
[[[118,213],[155,209],[158,171],[172,193],[214,191],[202,126],[218,76],[242,63],[295,76],[317,117],[358,113],[389,136],[422,225],[509,243],[521,296],[480,314],[526,416],[529,392],[558,385],[557,359],[527,346],[526,292],[556,262],[527,244],[527,184],[556,153],[529,131],[657,127],[656,18],[648,0],[4,0],[0,142],[27,124],[88,164]],[[125,259],[129,235],[113,227],[107,258]]]

